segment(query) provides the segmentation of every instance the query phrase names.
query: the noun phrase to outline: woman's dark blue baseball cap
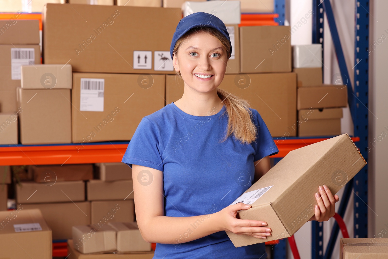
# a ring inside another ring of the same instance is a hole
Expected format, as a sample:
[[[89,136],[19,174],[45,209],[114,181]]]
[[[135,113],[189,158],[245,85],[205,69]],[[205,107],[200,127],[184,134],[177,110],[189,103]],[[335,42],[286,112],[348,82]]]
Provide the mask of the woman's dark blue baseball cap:
[[[195,12],[194,14],[189,14],[188,16],[182,18],[182,20],[179,21],[177,29],[175,30],[171,41],[171,59],[177,40],[182,37],[187,31],[194,28],[200,29],[203,27],[211,27],[220,31],[220,33],[222,33],[228,39],[230,45],[229,54],[232,55],[232,43],[230,42],[229,33],[226,29],[225,24],[220,20],[220,18],[214,16],[213,14],[208,14],[206,12]]]

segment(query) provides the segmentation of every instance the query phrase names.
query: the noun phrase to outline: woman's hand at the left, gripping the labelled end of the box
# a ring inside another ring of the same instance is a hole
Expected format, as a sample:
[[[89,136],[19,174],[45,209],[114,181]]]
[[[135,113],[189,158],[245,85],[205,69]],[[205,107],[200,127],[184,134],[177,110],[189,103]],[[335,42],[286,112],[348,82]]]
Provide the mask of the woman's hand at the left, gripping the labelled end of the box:
[[[251,205],[239,202],[237,204],[229,205],[219,212],[216,212],[219,216],[220,228],[224,231],[229,231],[237,235],[248,235],[256,238],[267,238],[267,236],[270,236],[272,230],[266,227],[267,222],[249,219],[236,219],[237,211],[247,210],[251,207]]]

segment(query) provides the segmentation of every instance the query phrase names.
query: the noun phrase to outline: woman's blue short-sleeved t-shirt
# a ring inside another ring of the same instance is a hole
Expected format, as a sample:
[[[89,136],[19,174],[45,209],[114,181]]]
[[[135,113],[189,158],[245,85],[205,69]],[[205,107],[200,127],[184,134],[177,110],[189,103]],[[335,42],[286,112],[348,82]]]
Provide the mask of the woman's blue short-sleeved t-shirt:
[[[225,106],[221,111],[213,108],[208,116],[194,116],[172,102],[141,120],[122,162],[163,171],[165,216],[218,212],[253,184],[253,162],[279,152],[258,111],[251,111],[256,142],[241,144],[229,136],[219,143],[228,123]],[[189,235],[188,230],[177,236],[176,244],[157,243],[153,258],[266,258],[264,243],[236,248],[225,231],[182,243]]]

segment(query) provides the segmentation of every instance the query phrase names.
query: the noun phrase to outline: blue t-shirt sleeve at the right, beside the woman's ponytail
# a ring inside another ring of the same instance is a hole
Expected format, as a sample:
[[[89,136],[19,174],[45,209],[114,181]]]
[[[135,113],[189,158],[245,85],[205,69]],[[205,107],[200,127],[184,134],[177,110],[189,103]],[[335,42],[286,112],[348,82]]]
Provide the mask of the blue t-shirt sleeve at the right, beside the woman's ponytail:
[[[262,116],[254,109],[252,109],[252,113],[257,127],[256,143],[252,143],[253,148],[256,150],[255,155],[253,155],[253,161],[257,161],[265,156],[279,153],[279,149],[277,148],[267,125],[265,125]]]

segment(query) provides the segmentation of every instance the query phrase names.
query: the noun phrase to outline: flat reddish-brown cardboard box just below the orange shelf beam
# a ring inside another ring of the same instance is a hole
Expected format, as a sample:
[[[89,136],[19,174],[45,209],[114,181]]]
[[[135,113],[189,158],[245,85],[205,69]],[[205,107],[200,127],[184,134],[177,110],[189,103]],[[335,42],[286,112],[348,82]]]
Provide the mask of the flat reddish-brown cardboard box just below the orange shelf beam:
[[[78,181],[93,179],[92,164],[74,165],[35,165],[30,166],[36,183],[54,183],[55,181]]]

